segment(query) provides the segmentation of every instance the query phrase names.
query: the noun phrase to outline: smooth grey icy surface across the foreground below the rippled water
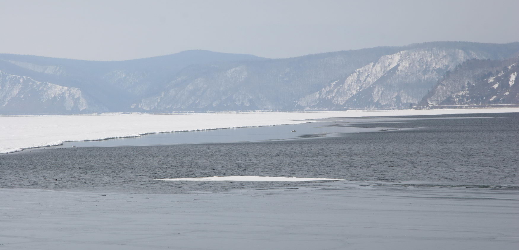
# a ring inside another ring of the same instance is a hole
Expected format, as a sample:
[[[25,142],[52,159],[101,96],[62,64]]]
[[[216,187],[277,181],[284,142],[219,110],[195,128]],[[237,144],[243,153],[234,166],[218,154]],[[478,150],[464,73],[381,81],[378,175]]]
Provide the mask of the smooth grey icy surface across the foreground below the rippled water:
[[[519,190],[318,187],[149,195],[0,189],[8,249],[517,249]]]

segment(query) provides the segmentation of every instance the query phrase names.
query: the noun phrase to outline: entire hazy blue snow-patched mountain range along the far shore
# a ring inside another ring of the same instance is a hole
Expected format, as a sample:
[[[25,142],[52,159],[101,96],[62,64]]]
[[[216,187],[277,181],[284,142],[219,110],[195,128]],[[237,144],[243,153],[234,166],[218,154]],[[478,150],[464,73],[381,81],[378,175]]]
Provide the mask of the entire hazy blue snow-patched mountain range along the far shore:
[[[292,58],[203,50],[129,61],[0,54],[0,113],[519,104],[519,42],[426,42]]]

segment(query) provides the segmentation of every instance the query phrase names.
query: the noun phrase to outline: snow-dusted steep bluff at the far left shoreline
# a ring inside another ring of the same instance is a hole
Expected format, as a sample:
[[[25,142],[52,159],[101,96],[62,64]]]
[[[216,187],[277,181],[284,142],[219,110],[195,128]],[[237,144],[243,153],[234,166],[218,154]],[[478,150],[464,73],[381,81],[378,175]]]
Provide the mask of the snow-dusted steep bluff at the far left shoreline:
[[[0,113],[92,112],[99,109],[102,110],[92,105],[75,87],[38,82],[0,71]]]

